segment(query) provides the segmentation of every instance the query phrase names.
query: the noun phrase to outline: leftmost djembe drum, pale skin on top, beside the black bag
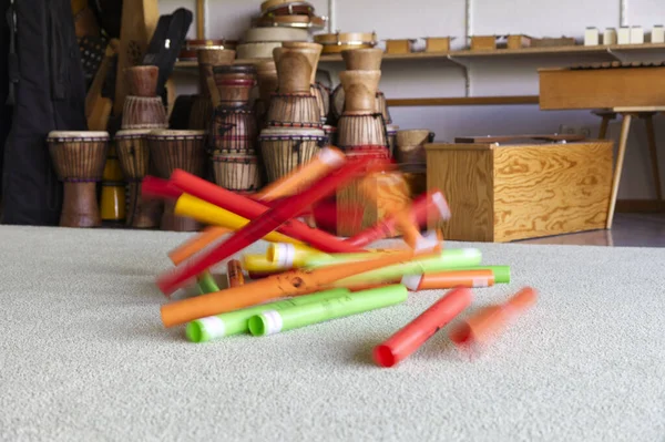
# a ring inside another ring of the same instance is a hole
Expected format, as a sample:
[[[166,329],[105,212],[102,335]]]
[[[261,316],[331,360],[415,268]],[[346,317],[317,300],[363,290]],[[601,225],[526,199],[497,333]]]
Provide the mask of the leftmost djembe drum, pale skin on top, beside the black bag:
[[[104,174],[109,140],[108,132],[49,133],[49,153],[58,178],[64,183],[61,226],[98,227],[102,224],[96,183]]]

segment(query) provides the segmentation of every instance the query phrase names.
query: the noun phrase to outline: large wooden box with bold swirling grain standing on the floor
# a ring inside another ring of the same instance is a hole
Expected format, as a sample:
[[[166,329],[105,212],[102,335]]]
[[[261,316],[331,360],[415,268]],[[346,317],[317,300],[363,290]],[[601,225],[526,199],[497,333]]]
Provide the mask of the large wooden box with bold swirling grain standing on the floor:
[[[443,238],[503,243],[605,228],[613,142],[426,144],[427,185],[452,213]]]

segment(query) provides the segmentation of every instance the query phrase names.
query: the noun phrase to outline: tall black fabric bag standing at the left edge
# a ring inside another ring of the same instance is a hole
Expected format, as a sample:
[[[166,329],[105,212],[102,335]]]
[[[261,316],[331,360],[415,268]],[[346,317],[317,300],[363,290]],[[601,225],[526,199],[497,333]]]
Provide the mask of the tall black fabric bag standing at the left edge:
[[[2,0],[3,12],[10,1]],[[51,131],[85,131],[85,82],[70,0],[13,0],[16,103],[4,146],[2,224],[57,225]],[[9,72],[12,72],[10,63]]]

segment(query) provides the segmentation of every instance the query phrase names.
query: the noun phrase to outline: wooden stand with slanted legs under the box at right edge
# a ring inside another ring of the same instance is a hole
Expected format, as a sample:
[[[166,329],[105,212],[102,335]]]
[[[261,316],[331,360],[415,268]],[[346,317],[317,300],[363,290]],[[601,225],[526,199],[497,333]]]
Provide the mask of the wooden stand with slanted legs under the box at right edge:
[[[661,185],[661,171],[658,168],[658,152],[656,148],[656,134],[654,131],[653,116],[658,112],[665,113],[665,106],[648,106],[648,107],[612,107],[606,110],[593,111],[595,115],[603,119],[601,122],[601,129],[598,133],[600,138],[607,136],[607,125],[610,121],[615,120],[617,115],[622,116],[621,134],[618,136],[618,154],[616,156],[616,165],[614,167],[614,177],[612,183],[612,196],[610,198],[610,208],[607,210],[607,225],[606,228],[612,228],[612,222],[614,219],[614,209],[616,207],[616,196],[618,194],[618,185],[621,183],[621,173],[623,169],[623,163],[626,153],[626,145],[628,141],[628,133],[631,132],[631,123],[633,116],[637,116],[644,120],[646,129],[646,137],[648,142],[648,150],[651,154],[652,174],[654,178],[654,186],[656,188],[656,198],[663,199],[663,188]]]

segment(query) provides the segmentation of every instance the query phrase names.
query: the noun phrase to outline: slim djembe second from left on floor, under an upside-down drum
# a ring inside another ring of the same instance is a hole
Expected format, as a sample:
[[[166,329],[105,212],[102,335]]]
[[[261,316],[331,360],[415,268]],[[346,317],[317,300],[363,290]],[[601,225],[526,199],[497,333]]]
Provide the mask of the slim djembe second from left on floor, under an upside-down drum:
[[[134,228],[160,227],[163,203],[158,199],[142,198],[143,178],[151,173],[150,145],[151,130],[119,131],[115,134],[115,148],[125,181],[129,184],[126,224]]]

